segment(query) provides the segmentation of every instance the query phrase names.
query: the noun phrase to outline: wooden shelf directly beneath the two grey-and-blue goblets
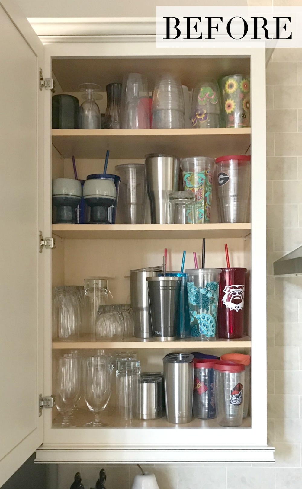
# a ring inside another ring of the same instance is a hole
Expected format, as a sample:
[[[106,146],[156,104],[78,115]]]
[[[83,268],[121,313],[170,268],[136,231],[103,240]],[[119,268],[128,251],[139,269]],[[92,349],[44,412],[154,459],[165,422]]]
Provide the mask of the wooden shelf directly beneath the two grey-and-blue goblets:
[[[244,238],[251,224],[53,224],[52,232],[69,240]]]

